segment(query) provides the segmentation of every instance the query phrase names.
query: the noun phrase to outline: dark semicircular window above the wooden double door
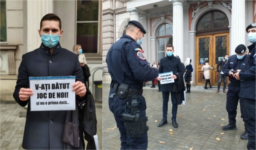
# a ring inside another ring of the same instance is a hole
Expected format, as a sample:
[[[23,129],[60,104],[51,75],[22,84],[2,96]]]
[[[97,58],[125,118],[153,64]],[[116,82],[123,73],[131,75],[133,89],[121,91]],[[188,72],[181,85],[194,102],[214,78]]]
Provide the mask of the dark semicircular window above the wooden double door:
[[[227,16],[217,10],[204,14],[196,26],[196,35],[229,31]]]

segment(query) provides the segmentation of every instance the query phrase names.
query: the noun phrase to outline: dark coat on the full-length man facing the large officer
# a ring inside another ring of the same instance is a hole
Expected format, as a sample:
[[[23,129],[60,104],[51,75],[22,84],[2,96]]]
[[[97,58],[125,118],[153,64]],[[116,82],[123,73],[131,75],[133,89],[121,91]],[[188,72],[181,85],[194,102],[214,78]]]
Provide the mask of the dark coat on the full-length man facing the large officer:
[[[166,56],[160,60],[159,73],[165,73],[172,71],[173,75],[180,72],[183,74],[183,66],[181,60],[174,57]],[[173,91],[173,86],[175,83],[168,83],[161,85],[160,91]]]

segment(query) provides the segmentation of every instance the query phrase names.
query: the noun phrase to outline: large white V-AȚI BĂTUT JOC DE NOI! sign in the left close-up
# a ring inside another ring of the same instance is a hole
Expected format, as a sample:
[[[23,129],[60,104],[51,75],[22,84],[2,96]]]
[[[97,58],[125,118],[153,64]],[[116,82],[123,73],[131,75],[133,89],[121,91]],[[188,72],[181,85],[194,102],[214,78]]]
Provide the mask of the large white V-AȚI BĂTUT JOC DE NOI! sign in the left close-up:
[[[75,76],[30,77],[31,111],[75,110]]]

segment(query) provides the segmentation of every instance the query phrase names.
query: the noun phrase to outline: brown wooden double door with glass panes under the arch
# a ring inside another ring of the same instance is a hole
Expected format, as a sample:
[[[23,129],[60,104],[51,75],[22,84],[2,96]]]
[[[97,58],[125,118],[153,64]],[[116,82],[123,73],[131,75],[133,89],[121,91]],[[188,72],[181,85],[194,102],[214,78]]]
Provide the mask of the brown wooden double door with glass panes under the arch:
[[[201,71],[201,68],[204,61],[208,60],[209,65],[214,68],[213,70],[210,70],[211,85],[216,87],[218,86],[219,72],[217,72],[217,64],[220,60],[224,59],[226,54],[229,55],[229,32],[196,36],[196,85],[205,85],[205,79],[203,79],[203,71]],[[228,85],[228,78],[226,85]],[[223,80],[221,87],[223,87]]]

